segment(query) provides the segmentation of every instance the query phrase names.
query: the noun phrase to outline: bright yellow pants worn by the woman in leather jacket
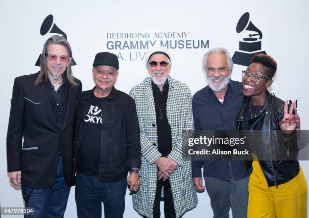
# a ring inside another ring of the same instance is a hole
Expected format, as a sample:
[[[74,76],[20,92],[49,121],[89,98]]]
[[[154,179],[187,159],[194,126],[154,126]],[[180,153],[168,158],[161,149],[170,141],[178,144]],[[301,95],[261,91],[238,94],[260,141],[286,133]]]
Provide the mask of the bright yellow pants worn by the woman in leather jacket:
[[[307,183],[300,168],[292,180],[268,187],[258,161],[252,163],[249,180],[248,218],[306,218]]]

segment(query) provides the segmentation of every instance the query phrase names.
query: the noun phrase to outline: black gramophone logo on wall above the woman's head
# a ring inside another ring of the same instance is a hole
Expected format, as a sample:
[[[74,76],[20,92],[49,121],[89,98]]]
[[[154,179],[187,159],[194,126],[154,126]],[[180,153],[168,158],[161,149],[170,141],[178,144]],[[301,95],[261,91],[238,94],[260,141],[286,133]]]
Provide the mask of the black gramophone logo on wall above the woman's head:
[[[251,58],[257,53],[265,53],[262,51],[262,37],[263,34],[261,30],[255,27],[249,20],[249,13],[244,13],[236,26],[236,32],[240,33],[244,30],[253,31],[254,34],[249,34],[249,37],[243,38],[239,41],[239,51],[235,51],[232,60],[234,64],[249,66],[251,63]]]

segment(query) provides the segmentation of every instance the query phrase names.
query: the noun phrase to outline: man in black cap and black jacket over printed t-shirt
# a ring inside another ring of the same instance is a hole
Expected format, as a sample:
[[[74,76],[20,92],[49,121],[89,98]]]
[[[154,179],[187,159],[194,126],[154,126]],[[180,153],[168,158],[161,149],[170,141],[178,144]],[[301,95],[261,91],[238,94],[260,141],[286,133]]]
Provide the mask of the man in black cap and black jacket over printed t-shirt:
[[[127,184],[139,188],[141,150],[134,99],[115,89],[118,57],[97,53],[95,87],[78,97],[74,140],[78,217],[123,217]],[[130,176],[127,178],[128,171]]]

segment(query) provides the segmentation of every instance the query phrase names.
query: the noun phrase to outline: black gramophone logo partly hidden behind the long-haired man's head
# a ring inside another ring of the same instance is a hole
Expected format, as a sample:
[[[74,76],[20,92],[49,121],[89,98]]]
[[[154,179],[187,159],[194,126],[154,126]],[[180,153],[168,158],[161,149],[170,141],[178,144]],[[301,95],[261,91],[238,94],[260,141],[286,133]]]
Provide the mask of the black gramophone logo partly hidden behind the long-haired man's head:
[[[66,39],[68,39],[67,34],[62,31],[55,23],[54,23],[54,17],[53,15],[48,15],[42,25],[41,25],[41,29],[40,29],[40,34],[46,35],[47,33],[57,33],[62,35],[63,37],[65,37]],[[41,55],[39,55],[39,57],[36,60],[36,63],[34,66],[40,66],[40,59],[41,59]],[[73,57],[72,57],[72,66],[76,65]]]

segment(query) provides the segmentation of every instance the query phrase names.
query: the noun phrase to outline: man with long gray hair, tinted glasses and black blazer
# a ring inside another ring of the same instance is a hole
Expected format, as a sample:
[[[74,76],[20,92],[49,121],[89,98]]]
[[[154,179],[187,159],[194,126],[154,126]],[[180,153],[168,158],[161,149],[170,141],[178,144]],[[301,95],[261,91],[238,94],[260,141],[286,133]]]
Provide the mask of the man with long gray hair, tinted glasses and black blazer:
[[[70,44],[54,35],[44,43],[40,71],[14,81],[8,172],[11,182],[21,185],[25,207],[35,209],[29,217],[63,217],[66,209],[73,182],[76,99],[82,88],[71,61]]]

